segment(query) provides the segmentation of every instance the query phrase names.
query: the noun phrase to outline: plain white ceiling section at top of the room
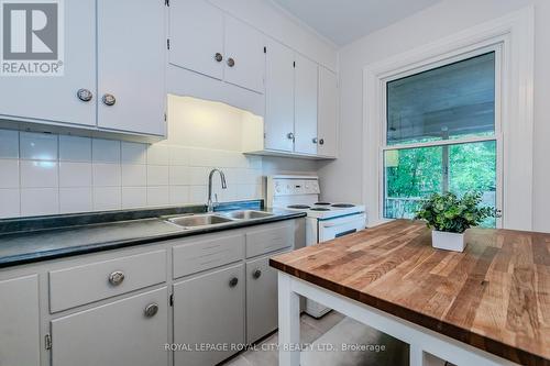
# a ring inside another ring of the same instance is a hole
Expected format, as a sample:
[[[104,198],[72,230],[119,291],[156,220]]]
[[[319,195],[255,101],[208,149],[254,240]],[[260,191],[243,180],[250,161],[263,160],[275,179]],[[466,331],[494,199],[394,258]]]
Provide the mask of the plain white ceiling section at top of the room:
[[[273,0],[339,46],[441,0]]]

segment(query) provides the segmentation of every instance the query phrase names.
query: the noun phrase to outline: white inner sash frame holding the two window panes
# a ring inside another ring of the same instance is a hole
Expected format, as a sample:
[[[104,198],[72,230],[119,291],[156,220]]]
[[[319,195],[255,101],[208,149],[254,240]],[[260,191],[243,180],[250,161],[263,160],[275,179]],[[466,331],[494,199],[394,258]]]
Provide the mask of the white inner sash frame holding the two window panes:
[[[464,52],[459,55],[451,57],[442,57],[437,62],[427,63],[421,66],[417,66],[405,71],[386,75],[381,79],[381,121],[382,127],[380,129],[381,136],[378,141],[378,166],[381,171],[378,173],[378,215],[380,220],[392,221],[395,219],[385,217],[385,195],[387,191],[386,187],[386,169],[384,165],[384,153],[387,151],[399,151],[407,148],[419,148],[419,147],[433,147],[433,146],[450,146],[458,144],[469,144],[486,141],[495,141],[496,143],[496,191],[495,191],[495,208],[502,212],[503,207],[503,129],[502,129],[502,99],[503,99],[503,43],[498,42],[473,51]],[[465,60],[472,57],[481,56],[487,53],[495,53],[495,133],[488,136],[471,136],[471,137],[454,137],[450,140],[420,142],[420,143],[404,143],[404,144],[387,144],[387,84],[393,80],[402,79],[411,75],[428,71],[438,67],[447,66],[453,63]],[[496,228],[503,228],[503,217],[496,219]]]

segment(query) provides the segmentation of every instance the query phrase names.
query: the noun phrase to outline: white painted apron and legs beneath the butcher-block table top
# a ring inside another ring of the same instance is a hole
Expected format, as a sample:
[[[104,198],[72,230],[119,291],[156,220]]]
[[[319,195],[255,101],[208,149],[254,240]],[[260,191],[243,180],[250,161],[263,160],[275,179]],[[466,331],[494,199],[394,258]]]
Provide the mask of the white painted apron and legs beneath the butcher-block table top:
[[[299,339],[299,318],[296,312],[299,306],[289,301],[297,295],[322,303],[328,308],[367,324],[381,332],[392,335],[410,345],[410,365],[426,365],[425,353],[449,361],[459,366],[516,366],[517,364],[451,339],[441,333],[417,325],[398,317],[388,314],[376,308],[358,302],[339,293],[329,291],[297,277],[278,273],[279,296],[279,350],[294,344]],[[283,307],[280,306],[283,303]],[[294,318],[294,322],[290,319]],[[283,321],[280,321],[283,319]],[[296,334],[298,330],[298,334]],[[290,336],[292,334],[292,336]],[[345,342],[345,340],[342,340]],[[280,352],[279,366],[298,366],[299,352]],[[292,356],[290,356],[292,355]]]

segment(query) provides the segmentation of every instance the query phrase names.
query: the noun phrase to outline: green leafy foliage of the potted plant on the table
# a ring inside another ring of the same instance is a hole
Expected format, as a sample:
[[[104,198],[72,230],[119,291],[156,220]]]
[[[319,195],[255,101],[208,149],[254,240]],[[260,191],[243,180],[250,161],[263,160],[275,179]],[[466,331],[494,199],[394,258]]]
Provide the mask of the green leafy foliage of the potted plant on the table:
[[[457,195],[433,193],[416,212],[415,219],[426,220],[429,228],[450,233],[463,233],[477,226],[486,218],[494,218],[495,209],[481,207],[482,193],[468,192],[461,198]]]

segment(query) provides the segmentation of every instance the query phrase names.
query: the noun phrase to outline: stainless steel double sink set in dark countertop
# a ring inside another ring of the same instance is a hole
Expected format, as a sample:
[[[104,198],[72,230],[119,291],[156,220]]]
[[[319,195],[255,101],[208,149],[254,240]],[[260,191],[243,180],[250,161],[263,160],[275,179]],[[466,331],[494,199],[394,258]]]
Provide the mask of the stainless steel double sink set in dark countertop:
[[[163,218],[166,221],[184,229],[199,229],[204,226],[218,226],[235,221],[256,220],[274,217],[275,214],[256,210],[239,210],[215,213],[191,213]]]

